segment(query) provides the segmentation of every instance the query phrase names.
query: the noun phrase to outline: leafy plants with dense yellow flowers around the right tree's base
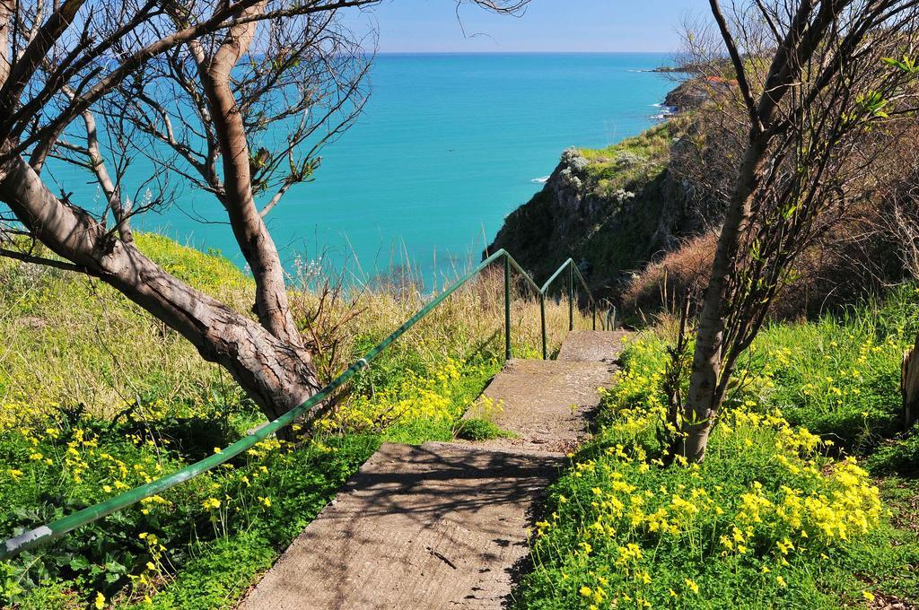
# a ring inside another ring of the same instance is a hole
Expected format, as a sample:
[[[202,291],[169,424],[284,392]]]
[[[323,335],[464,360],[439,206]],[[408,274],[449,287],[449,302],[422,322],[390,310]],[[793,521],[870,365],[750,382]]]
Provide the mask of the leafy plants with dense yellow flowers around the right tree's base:
[[[773,330],[771,347],[784,336]],[[596,438],[550,490],[520,605],[827,608],[915,599],[919,544],[888,519],[867,471],[834,459],[834,445],[789,424],[770,402],[782,395],[776,371],[787,365],[749,374],[704,462],[668,453],[659,442],[665,345],[654,331],[630,342]]]

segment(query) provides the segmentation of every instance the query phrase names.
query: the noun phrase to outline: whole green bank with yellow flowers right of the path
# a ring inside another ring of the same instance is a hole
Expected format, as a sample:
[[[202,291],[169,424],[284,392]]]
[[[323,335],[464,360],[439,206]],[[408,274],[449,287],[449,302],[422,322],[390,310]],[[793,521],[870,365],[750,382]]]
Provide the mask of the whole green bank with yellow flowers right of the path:
[[[894,377],[917,303],[906,286],[836,318],[767,328],[696,466],[660,443],[670,327],[642,333],[596,438],[550,490],[519,605],[914,604],[919,486],[904,466],[919,445],[897,437]]]

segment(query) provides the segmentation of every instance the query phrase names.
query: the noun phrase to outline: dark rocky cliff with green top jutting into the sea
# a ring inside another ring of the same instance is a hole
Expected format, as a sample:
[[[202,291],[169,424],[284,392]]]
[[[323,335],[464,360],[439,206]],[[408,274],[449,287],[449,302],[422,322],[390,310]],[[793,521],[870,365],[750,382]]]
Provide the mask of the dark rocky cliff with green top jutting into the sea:
[[[669,169],[686,127],[672,119],[607,149],[568,149],[489,250],[507,249],[540,281],[571,256],[592,288],[614,296],[655,254],[709,226],[709,203]]]

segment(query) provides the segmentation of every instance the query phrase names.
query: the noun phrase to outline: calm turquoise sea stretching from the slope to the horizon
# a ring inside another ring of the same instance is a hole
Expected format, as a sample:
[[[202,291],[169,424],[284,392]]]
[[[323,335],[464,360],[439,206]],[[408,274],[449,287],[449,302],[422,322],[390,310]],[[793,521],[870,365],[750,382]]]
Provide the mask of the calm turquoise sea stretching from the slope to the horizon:
[[[675,84],[646,71],[665,62],[647,53],[380,55],[363,116],[324,150],[315,180],[268,217],[275,240],[288,262],[323,257],[334,270],[348,261],[362,277],[408,263],[431,288],[478,258],[565,148],[651,126]],[[85,176],[66,176],[74,200],[97,197]],[[178,206],[135,225],[242,264],[226,224],[193,217],[222,220],[219,204],[185,189]]]

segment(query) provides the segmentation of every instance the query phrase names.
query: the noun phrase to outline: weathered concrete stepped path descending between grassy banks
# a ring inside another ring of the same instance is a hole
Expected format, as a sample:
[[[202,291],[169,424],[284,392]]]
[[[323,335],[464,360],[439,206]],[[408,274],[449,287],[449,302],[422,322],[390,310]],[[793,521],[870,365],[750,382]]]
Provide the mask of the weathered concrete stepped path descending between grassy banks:
[[[486,414],[517,438],[381,446],[241,607],[505,607],[534,511],[585,435],[620,340],[575,332],[560,360],[510,361],[484,395],[502,407]]]

